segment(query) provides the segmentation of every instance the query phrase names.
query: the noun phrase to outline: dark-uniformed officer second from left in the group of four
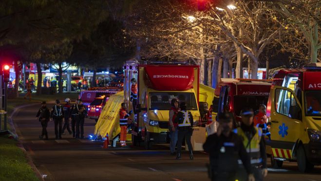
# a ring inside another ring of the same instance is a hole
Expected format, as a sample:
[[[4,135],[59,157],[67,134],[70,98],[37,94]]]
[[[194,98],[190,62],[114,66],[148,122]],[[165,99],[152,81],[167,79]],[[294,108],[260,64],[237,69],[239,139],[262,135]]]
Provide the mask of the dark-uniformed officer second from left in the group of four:
[[[55,134],[56,139],[62,139],[62,121],[64,120],[64,111],[63,107],[60,105],[60,101],[56,100],[56,105],[51,109],[51,119],[55,122]],[[58,128],[59,126],[59,128]]]

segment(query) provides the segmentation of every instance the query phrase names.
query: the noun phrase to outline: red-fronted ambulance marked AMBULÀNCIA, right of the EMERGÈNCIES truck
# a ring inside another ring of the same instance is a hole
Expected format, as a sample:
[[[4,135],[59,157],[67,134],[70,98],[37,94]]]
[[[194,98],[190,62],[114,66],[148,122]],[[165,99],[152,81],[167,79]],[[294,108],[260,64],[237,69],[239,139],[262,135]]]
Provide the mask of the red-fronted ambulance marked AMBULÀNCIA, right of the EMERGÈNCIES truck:
[[[227,110],[241,121],[241,110],[246,106],[254,111],[260,104],[267,104],[272,80],[226,79],[222,78],[215,89],[213,110],[218,113]],[[212,113],[214,116],[215,113]]]

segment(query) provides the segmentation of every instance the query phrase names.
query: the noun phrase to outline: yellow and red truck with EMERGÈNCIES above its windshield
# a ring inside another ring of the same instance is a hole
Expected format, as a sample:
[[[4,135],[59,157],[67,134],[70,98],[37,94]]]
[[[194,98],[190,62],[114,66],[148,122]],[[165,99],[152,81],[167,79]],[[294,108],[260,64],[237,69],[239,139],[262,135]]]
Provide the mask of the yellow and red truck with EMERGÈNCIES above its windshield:
[[[129,110],[130,80],[138,81],[137,120],[132,129],[134,145],[140,140],[149,149],[152,143],[169,142],[170,101],[185,101],[192,113],[194,125],[200,124],[199,67],[183,65],[183,62],[153,62],[152,64],[129,60],[124,65],[124,96]]]

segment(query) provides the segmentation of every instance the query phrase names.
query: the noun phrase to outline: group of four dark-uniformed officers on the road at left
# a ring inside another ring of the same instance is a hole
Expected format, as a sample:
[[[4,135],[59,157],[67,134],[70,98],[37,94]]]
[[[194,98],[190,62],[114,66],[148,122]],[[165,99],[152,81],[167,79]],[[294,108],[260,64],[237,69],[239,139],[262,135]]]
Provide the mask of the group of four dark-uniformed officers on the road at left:
[[[39,139],[48,140],[47,125],[50,121],[54,121],[55,124],[56,140],[62,139],[61,135],[65,135],[64,131],[66,129],[70,135],[73,134],[73,138],[84,139],[84,121],[87,116],[86,107],[82,104],[81,99],[77,99],[74,105],[71,105],[69,98],[65,102],[64,105],[61,105],[60,101],[56,100],[56,104],[51,109],[47,108],[45,101],[41,103],[42,106],[36,115],[36,120],[42,126]]]

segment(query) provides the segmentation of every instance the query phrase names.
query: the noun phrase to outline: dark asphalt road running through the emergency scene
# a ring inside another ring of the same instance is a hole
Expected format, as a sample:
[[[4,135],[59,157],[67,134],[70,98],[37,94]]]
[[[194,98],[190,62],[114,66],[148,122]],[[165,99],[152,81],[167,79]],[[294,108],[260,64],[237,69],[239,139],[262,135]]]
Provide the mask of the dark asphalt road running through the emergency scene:
[[[188,160],[187,153],[176,161],[169,155],[168,145],[156,145],[148,151],[143,147],[102,149],[100,142],[74,140],[71,135],[63,136],[64,142],[59,143],[53,122],[48,124],[49,140],[39,141],[38,108],[20,109],[13,121],[19,139],[46,181],[209,181],[205,166],[208,155],[203,152],[196,152],[194,161]],[[94,124],[85,120],[85,136],[94,132]],[[269,168],[264,181],[285,180],[321,181],[321,166],[307,174],[300,173],[295,162],[285,162],[282,169]]]

